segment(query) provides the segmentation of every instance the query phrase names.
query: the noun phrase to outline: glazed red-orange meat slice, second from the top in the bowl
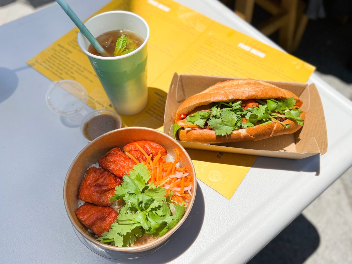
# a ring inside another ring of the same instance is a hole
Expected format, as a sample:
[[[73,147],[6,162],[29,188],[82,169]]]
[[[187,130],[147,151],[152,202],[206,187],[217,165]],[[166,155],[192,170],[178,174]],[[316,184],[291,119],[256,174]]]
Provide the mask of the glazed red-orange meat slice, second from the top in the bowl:
[[[121,178],[136,165],[136,163],[118,147],[115,147],[98,159],[98,164]]]

